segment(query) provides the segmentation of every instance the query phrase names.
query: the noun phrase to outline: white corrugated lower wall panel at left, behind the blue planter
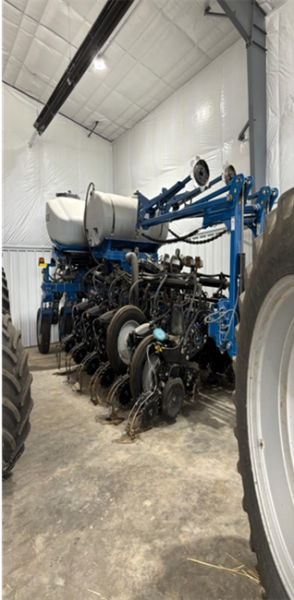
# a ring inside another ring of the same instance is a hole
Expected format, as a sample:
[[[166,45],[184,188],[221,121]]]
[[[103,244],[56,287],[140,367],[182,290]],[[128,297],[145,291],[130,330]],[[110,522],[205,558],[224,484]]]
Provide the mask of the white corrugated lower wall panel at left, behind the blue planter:
[[[8,281],[12,320],[22,332],[24,346],[37,344],[36,315],[42,283],[42,269],[38,267],[40,256],[49,262],[51,252],[48,248],[2,250],[1,265]],[[57,326],[51,327],[51,341],[58,341]]]

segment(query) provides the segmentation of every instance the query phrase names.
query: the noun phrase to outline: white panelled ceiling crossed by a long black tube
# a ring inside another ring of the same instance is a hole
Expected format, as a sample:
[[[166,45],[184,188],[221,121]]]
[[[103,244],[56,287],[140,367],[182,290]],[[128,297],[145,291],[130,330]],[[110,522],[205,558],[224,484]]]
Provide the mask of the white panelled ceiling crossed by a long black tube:
[[[46,103],[106,1],[3,0],[2,79]],[[283,3],[260,0],[265,12]],[[135,0],[101,49],[107,69],[91,65],[60,112],[88,128],[98,120],[109,140],[133,127],[239,38],[206,6]]]

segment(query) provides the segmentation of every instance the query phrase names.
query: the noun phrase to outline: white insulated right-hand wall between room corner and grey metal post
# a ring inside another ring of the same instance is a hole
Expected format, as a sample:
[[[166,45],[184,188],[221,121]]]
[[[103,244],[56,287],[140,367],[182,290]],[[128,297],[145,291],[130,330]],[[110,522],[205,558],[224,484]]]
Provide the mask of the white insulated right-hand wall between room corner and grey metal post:
[[[247,119],[246,50],[240,40],[113,143],[115,191],[139,189],[151,198],[186,177],[197,155],[208,162],[211,178],[226,162],[249,174],[249,143],[238,141]],[[189,219],[172,227],[183,234],[198,222]],[[228,272],[228,235],[208,245],[171,244],[161,252],[172,254],[177,247],[200,255],[206,273]]]

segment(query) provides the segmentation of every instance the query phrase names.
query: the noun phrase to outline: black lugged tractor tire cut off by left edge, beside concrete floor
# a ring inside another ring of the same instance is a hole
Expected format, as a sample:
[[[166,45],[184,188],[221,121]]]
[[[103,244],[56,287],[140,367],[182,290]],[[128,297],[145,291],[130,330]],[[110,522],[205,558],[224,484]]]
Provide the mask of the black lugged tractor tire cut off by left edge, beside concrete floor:
[[[6,477],[24,450],[30,431],[32,376],[28,351],[10,315],[0,315],[0,476]]]

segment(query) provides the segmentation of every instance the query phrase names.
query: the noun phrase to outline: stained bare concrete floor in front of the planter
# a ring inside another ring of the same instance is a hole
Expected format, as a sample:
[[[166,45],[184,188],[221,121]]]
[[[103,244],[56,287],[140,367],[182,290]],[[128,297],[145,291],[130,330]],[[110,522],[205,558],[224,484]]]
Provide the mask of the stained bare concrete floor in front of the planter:
[[[231,393],[202,390],[173,425],[121,439],[124,424],[74,393],[47,357],[35,370],[32,431],[2,484],[6,600],[259,600],[236,473]],[[42,370],[41,370],[42,369]]]

